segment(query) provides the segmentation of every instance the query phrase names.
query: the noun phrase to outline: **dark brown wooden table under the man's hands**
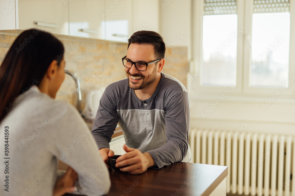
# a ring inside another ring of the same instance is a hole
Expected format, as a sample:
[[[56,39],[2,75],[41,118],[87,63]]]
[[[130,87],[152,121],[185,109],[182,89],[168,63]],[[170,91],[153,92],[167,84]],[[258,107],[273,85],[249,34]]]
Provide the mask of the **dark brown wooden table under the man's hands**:
[[[173,163],[161,169],[149,168],[140,175],[112,169],[110,170],[112,186],[108,195],[205,196],[210,195],[226,176],[227,166],[183,162]],[[224,186],[224,191],[225,188]]]

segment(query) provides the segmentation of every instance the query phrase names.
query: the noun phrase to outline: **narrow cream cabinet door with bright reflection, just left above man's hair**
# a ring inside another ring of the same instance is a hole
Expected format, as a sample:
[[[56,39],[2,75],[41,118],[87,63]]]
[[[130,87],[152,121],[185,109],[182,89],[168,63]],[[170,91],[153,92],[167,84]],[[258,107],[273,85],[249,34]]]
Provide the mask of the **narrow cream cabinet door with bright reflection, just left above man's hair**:
[[[132,0],[105,1],[106,40],[127,42],[132,31]]]

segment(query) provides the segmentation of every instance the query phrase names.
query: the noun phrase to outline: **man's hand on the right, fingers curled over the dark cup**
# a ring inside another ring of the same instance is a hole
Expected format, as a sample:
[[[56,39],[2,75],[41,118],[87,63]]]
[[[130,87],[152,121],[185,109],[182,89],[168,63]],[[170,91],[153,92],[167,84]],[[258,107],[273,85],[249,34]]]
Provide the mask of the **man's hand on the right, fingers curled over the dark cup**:
[[[142,153],[140,150],[129,148],[126,145],[123,145],[123,149],[127,153],[121,155],[116,160],[116,167],[124,167],[120,168],[121,171],[129,172],[130,174],[141,174],[149,167],[155,165],[155,162],[150,153]]]

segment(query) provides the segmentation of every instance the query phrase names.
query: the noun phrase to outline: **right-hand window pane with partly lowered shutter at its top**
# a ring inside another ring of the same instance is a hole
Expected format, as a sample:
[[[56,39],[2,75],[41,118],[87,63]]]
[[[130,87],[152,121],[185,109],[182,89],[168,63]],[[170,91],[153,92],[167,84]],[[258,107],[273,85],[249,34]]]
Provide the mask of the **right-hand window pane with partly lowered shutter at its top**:
[[[288,87],[289,0],[254,1],[250,86]]]

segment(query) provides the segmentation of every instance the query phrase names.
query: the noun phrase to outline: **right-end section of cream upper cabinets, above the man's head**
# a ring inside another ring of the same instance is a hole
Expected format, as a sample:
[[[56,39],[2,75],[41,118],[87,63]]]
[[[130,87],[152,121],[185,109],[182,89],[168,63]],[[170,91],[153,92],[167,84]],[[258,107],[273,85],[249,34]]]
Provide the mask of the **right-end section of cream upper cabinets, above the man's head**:
[[[159,31],[159,0],[106,0],[106,40],[127,42],[136,31]]]

